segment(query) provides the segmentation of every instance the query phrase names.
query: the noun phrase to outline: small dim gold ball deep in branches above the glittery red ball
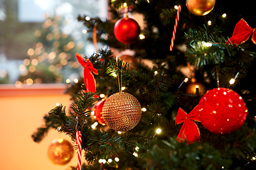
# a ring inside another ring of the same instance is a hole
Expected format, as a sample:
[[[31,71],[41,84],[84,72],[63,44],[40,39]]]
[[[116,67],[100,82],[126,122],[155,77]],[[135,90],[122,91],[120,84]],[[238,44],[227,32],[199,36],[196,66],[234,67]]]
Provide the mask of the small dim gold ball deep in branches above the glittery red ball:
[[[200,95],[206,94],[206,86],[201,82],[196,81],[196,79],[191,79],[191,82],[186,86],[186,94],[196,95],[197,90]]]

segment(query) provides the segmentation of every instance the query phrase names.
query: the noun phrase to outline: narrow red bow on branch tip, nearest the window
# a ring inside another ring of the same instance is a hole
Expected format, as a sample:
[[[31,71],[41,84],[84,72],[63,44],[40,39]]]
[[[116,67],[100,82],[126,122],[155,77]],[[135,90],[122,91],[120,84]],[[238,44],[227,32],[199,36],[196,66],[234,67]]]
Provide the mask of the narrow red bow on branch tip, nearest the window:
[[[87,89],[87,91],[95,93],[96,81],[92,73],[97,75],[97,69],[93,67],[92,62],[90,62],[88,59],[85,62],[85,60],[83,60],[83,58],[78,53],[75,53],[75,57],[77,57],[78,62],[82,65],[82,67],[84,67],[85,88]],[[95,95],[95,97],[98,96]]]

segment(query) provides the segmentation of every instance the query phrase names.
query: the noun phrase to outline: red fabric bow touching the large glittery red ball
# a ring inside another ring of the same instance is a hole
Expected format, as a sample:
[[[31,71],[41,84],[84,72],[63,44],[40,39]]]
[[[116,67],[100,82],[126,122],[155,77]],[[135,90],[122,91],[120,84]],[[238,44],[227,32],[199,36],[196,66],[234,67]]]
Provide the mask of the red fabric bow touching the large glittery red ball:
[[[188,142],[198,141],[200,139],[200,131],[196,123],[193,120],[198,120],[198,106],[193,108],[191,113],[187,114],[182,108],[178,108],[178,113],[175,120],[175,125],[183,123],[181,130],[178,132],[176,141],[183,142],[185,139]]]

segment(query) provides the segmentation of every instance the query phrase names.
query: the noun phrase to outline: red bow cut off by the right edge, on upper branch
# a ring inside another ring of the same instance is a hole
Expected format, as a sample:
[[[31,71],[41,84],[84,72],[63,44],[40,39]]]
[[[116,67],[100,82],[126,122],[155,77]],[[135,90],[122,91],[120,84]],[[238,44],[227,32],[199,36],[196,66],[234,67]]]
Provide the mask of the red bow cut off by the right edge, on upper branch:
[[[240,44],[247,41],[252,35],[252,42],[256,44],[256,32],[255,28],[252,29],[244,19],[240,19],[240,21],[236,24],[235,30],[231,38],[228,39],[226,43],[228,44]]]

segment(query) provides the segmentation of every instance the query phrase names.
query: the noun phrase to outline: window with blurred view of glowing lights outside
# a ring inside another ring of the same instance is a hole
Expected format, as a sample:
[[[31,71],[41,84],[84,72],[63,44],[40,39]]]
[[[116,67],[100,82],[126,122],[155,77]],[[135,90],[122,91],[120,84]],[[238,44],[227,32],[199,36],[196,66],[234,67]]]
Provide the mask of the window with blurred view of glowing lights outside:
[[[107,0],[0,0],[0,84],[78,79],[75,52],[95,52],[79,15],[104,20]]]

